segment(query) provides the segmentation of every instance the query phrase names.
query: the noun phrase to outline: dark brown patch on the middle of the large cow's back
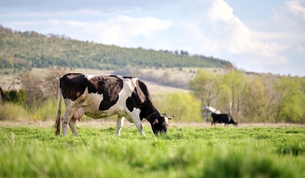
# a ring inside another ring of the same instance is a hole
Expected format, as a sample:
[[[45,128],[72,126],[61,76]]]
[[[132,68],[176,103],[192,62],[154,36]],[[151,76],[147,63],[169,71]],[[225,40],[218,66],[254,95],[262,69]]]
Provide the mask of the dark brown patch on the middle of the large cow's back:
[[[94,76],[88,81],[88,93],[103,94],[99,110],[107,110],[118,100],[118,93],[123,89],[123,81],[111,76]]]

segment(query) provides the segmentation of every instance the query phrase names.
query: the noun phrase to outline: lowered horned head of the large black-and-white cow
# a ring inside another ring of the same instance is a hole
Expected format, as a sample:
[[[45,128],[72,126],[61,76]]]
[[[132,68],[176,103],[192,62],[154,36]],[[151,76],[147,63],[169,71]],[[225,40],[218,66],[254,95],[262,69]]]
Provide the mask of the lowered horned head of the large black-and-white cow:
[[[160,114],[160,116],[157,117],[152,123],[152,131],[154,135],[157,136],[161,133],[167,133],[167,129],[169,127],[169,119],[174,117],[175,115],[172,117],[167,117],[166,112],[164,114]]]

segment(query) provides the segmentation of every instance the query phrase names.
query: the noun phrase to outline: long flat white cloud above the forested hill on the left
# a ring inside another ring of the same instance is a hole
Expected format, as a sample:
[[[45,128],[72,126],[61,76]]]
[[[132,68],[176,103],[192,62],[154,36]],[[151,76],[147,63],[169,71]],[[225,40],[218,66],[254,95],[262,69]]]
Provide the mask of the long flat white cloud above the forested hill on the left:
[[[97,22],[75,20],[21,21],[6,23],[16,29],[31,29],[36,26],[40,33],[66,35],[80,40],[95,41],[103,44],[128,45],[137,36],[151,38],[156,31],[164,31],[171,25],[169,20],[157,18],[131,18],[117,16]],[[46,28],[47,27],[47,28]]]

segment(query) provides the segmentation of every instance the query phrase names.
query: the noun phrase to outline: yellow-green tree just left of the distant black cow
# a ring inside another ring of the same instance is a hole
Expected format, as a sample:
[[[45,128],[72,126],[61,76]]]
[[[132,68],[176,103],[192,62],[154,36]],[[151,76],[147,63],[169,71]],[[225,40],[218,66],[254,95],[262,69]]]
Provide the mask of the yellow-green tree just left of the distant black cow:
[[[220,76],[212,72],[199,70],[194,80],[190,83],[190,89],[194,95],[201,101],[201,108],[210,106],[211,102],[216,99],[219,93]],[[208,112],[208,110],[207,110]],[[207,114],[206,114],[207,115]],[[206,118],[206,121],[209,119]]]

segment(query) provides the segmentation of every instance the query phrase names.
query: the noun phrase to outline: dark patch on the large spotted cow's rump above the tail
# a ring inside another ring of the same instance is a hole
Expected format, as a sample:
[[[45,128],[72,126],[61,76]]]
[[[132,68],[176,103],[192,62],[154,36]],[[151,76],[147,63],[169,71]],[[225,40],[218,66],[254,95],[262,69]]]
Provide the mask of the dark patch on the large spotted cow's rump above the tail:
[[[84,93],[88,83],[85,75],[81,73],[68,73],[61,77],[59,81],[63,98],[68,98],[72,101],[75,101]]]

